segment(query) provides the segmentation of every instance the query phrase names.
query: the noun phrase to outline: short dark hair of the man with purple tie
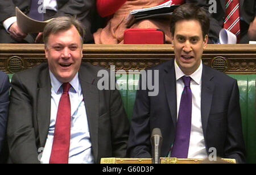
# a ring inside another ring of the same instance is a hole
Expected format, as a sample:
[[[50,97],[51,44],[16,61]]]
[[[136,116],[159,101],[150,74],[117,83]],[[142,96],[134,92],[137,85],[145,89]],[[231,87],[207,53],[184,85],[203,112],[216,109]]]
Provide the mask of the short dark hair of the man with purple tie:
[[[171,33],[174,36],[175,24],[181,20],[197,20],[203,32],[203,38],[208,35],[210,28],[209,15],[205,9],[193,3],[185,3],[174,10],[171,17]],[[193,30],[191,28],[191,30]]]

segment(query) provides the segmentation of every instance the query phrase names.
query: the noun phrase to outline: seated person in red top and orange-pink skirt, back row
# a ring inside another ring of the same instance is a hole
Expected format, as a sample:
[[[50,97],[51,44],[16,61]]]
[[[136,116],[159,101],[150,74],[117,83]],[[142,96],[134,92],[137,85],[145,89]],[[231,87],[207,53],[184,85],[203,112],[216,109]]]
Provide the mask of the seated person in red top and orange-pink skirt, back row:
[[[110,18],[105,28],[93,34],[96,44],[123,44],[123,32],[127,29],[127,16],[131,10],[154,7],[166,0],[97,0],[97,11],[101,17]],[[172,4],[182,4],[184,0],[173,0]],[[130,28],[159,28],[171,43],[170,22],[166,19],[145,19]]]

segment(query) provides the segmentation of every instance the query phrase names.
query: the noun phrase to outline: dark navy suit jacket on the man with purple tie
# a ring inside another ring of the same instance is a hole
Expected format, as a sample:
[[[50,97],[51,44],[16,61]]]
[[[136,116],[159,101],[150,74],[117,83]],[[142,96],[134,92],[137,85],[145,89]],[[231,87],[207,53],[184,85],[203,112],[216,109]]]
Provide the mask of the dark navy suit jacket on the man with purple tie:
[[[150,135],[153,128],[162,131],[160,156],[166,157],[174,143],[177,118],[174,60],[152,70],[159,70],[159,94],[149,97],[148,90],[137,90],[127,148],[130,157],[151,157]],[[214,147],[217,156],[235,158],[244,163],[245,145],[237,81],[203,65],[201,88],[201,120],[208,155],[211,153],[209,148]]]

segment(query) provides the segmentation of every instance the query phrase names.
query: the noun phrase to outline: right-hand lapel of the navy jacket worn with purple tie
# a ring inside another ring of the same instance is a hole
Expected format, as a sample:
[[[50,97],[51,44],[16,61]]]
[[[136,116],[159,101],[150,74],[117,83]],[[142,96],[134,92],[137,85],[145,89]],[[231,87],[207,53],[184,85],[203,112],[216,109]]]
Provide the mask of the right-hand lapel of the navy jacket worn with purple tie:
[[[203,64],[201,87],[201,119],[204,138],[206,138],[208,118],[210,114],[210,107],[212,105],[212,96],[214,91],[214,83],[212,81],[213,75],[209,73],[209,69],[210,68]]]

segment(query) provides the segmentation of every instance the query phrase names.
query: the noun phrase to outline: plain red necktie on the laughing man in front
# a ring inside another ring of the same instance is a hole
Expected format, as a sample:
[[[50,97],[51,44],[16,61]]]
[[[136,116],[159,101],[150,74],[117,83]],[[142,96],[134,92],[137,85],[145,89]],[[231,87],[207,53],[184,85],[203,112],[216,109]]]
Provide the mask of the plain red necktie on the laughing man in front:
[[[50,164],[68,164],[71,128],[71,105],[68,91],[71,85],[64,83],[62,86],[63,94],[60,97],[57,111]]]

